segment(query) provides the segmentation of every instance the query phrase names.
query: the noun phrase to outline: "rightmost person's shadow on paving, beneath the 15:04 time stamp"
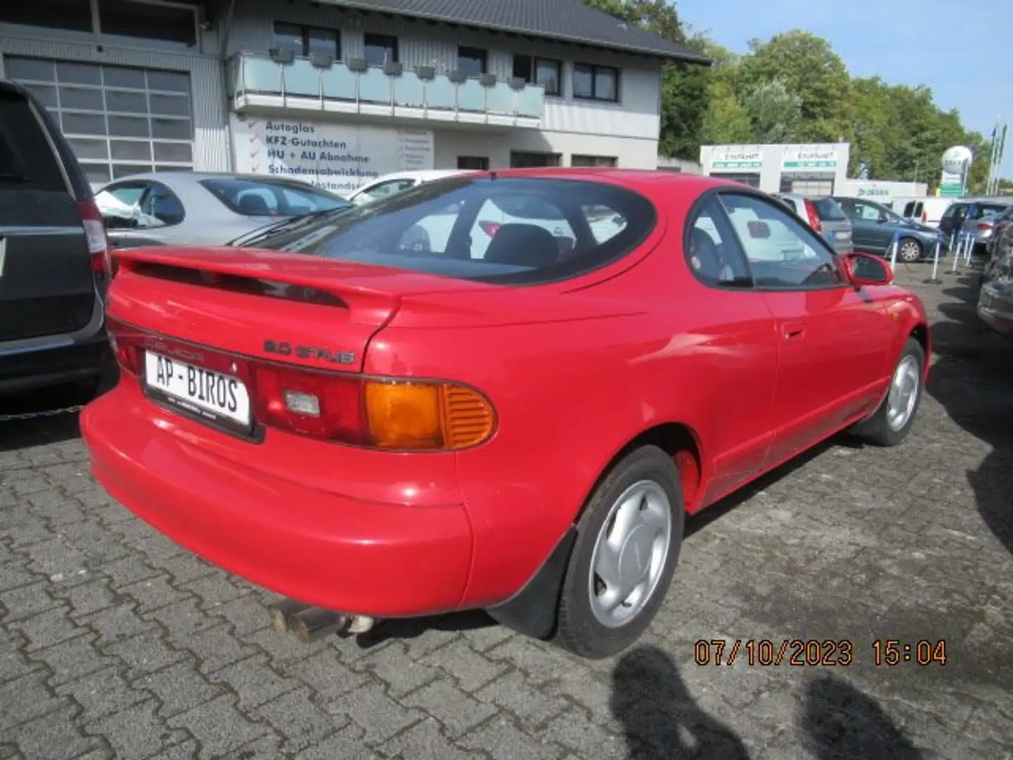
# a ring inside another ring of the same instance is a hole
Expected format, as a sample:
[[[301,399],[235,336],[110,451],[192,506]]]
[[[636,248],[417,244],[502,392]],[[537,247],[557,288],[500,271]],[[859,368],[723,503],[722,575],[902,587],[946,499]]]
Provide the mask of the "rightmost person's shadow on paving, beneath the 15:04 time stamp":
[[[922,760],[922,752],[871,697],[834,676],[806,684],[802,743],[816,760]]]

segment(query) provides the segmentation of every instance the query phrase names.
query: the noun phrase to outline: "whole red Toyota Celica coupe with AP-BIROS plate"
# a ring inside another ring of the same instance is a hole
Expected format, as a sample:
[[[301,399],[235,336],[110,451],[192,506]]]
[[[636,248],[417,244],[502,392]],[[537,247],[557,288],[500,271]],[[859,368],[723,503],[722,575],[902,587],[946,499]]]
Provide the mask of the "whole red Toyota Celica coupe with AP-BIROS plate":
[[[515,221],[476,257],[487,204]],[[545,205],[564,256],[523,216]],[[448,207],[446,244],[413,251]],[[300,600],[278,608],[297,630],[484,608],[616,654],[686,514],[837,431],[900,444],[928,372],[887,262],[713,177],[463,175],[263,247],[118,251],[123,379],[81,429],[109,493]]]

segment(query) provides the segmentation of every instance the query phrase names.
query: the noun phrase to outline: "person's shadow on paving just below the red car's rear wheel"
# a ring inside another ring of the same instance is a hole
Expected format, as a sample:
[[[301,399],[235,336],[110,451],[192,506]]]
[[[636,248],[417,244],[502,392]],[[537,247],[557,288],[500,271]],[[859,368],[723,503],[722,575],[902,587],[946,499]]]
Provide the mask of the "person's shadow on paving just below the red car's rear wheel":
[[[734,732],[697,705],[675,663],[656,647],[639,647],[620,658],[611,701],[631,760],[750,757]]]

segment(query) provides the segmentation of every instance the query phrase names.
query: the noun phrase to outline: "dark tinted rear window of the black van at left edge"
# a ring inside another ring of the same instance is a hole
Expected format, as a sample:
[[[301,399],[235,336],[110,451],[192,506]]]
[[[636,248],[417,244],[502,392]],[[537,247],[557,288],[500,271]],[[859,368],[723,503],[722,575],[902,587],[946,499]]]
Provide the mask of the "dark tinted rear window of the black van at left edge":
[[[0,89],[0,187],[67,193],[60,164],[24,96]]]

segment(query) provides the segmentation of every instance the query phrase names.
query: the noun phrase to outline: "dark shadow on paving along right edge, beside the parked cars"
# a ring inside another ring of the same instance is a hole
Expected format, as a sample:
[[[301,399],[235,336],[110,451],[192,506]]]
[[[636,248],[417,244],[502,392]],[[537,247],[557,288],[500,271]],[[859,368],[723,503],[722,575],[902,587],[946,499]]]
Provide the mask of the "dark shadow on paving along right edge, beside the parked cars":
[[[938,359],[926,390],[956,425],[992,448],[967,471],[967,482],[983,521],[1013,553],[1013,343],[978,319],[971,277],[945,294],[960,303],[940,307],[952,321],[932,327]]]

